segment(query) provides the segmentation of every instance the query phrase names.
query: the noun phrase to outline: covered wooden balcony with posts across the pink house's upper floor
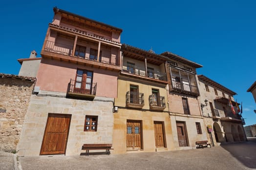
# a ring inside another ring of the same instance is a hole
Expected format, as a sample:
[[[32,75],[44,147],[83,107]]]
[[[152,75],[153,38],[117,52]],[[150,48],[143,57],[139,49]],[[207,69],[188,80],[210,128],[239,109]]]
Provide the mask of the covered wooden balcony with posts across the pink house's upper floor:
[[[41,55],[61,61],[121,70],[120,48],[119,42],[49,24]]]

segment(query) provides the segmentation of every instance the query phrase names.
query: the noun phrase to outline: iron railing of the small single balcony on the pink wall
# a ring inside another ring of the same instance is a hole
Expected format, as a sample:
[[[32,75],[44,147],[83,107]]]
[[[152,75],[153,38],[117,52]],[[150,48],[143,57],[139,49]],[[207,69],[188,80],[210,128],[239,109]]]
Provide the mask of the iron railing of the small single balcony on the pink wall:
[[[96,95],[96,88],[97,83],[76,82],[75,80],[70,80],[67,86],[67,93]]]

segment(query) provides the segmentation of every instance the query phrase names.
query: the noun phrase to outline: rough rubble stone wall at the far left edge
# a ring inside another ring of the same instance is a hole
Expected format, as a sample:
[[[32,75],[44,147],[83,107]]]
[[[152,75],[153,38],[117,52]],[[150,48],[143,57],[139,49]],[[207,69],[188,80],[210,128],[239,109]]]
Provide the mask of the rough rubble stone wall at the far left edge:
[[[0,151],[16,150],[33,84],[21,76],[0,76]]]

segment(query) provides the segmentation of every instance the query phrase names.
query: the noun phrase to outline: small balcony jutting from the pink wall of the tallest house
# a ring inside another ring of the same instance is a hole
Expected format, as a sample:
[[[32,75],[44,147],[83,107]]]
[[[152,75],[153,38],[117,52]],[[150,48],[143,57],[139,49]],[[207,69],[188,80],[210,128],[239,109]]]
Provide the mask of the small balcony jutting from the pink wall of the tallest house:
[[[84,85],[83,85],[84,84]],[[84,86],[84,87],[83,87]],[[70,80],[67,86],[67,97],[93,100],[96,96],[97,83],[82,82],[77,85],[75,80]]]

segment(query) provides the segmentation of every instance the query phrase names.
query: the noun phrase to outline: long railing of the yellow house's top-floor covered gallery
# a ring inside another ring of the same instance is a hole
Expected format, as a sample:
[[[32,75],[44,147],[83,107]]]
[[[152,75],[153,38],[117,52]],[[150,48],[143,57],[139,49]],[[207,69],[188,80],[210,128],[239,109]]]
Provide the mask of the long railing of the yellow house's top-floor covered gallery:
[[[140,68],[138,66],[135,65],[131,65],[131,64],[124,64],[122,71],[128,72],[130,74],[135,74],[135,75],[139,75],[139,76],[143,76],[146,77],[146,69],[145,68]],[[152,79],[157,79],[157,80],[164,80],[166,81],[166,73],[162,73],[160,71],[157,70],[147,70],[148,71],[148,77],[152,78]]]

